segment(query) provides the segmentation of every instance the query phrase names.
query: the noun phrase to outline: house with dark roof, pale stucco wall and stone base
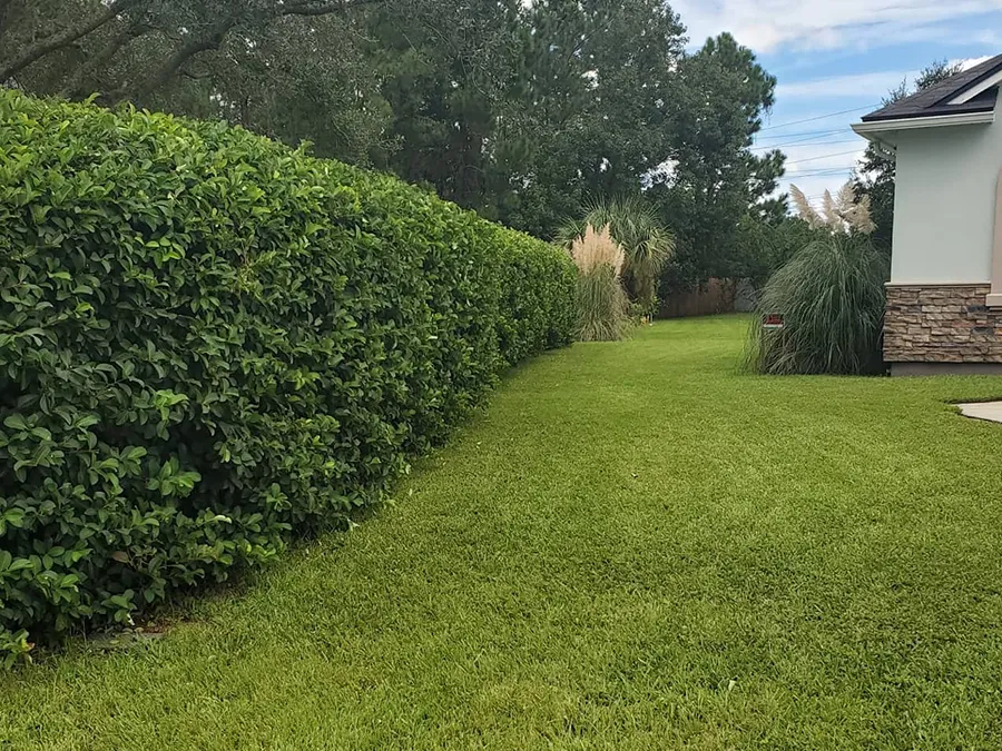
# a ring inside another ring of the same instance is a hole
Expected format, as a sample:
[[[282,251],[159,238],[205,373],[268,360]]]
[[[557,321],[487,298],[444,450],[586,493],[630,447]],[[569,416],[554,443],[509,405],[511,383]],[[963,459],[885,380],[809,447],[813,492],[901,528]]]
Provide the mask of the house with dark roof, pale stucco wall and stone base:
[[[1002,373],[1002,55],[853,129],[897,162],[884,359]]]

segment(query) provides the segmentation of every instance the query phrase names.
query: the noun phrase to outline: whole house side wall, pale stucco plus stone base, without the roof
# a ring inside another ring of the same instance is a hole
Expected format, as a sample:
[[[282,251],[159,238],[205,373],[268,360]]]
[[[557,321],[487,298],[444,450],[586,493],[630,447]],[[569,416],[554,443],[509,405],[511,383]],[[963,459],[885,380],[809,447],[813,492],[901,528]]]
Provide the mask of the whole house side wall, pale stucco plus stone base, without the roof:
[[[1002,97],[991,125],[894,136],[884,359],[892,374],[1002,373],[1002,308],[988,305],[1002,200]]]

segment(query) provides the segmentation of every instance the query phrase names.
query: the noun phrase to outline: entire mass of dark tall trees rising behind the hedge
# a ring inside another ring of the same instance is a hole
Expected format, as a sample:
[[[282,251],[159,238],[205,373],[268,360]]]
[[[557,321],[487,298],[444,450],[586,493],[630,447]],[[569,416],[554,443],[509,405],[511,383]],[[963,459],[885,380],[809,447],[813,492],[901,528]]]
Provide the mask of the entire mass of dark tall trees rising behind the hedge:
[[[308,140],[544,238],[644,191],[695,283],[783,157],[750,150],[752,51],[687,45],[662,0],[0,0],[0,81]]]

